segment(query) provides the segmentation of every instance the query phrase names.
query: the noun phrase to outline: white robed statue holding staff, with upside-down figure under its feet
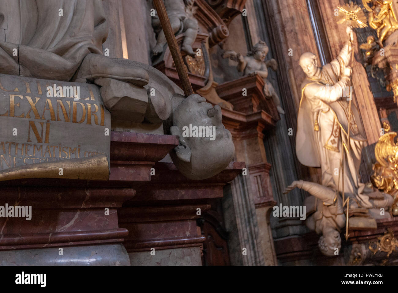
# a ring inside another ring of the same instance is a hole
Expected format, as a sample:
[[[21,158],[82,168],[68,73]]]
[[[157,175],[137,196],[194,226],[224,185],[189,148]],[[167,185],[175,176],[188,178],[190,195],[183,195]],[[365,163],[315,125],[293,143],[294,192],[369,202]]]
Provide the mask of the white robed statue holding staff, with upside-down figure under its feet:
[[[349,110],[352,91],[347,89],[351,86],[352,70],[349,63],[353,31],[349,27],[346,31],[349,41],[338,57],[325,66],[318,67],[313,53],[304,53],[300,57],[300,66],[306,79],[301,85],[296,154],[303,165],[320,167],[322,185],[299,180],[293,181],[285,190],[288,193],[298,187],[311,194],[304,201],[307,210],[306,226],[322,234],[318,246],[326,256],[334,256],[336,248],[341,248],[339,233],[345,226],[345,212],[340,196],[343,188],[345,198],[349,197],[350,208],[365,208],[371,218],[384,217],[380,215],[380,208],[387,210],[392,204],[390,195],[365,186],[359,179],[366,135],[355,100],[351,101],[351,111]],[[346,148],[348,144],[349,147]],[[385,217],[388,216],[389,213],[386,212]],[[356,217],[355,223],[360,222],[359,226],[365,228],[369,224],[366,219],[369,218]]]

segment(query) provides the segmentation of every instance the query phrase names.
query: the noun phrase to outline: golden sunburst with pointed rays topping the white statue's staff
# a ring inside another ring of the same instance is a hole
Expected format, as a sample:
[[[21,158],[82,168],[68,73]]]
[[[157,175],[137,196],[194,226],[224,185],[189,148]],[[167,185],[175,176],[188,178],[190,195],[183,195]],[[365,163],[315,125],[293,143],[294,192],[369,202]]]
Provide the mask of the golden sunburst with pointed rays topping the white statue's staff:
[[[352,28],[366,28],[368,26],[365,12],[363,12],[361,6],[350,2],[350,4],[337,6],[337,9],[339,10],[336,16],[338,24],[345,24]]]

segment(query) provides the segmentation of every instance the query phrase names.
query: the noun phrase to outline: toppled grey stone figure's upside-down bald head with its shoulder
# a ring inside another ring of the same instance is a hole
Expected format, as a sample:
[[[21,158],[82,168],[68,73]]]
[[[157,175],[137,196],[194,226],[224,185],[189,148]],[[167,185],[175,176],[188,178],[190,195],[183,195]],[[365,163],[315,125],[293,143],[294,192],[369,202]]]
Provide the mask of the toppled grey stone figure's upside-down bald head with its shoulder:
[[[178,170],[193,180],[206,179],[224,170],[234,157],[235,147],[230,132],[222,125],[220,106],[207,103],[198,94],[185,98],[181,88],[154,67],[140,62],[129,62],[145,69],[149,75],[149,83],[145,85],[148,91],[145,120],[163,121],[164,133],[179,137],[179,146],[170,152]],[[155,89],[153,96],[150,95],[152,88]],[[184,136],[183,128],[190,124],[215,128],[215,139]]]

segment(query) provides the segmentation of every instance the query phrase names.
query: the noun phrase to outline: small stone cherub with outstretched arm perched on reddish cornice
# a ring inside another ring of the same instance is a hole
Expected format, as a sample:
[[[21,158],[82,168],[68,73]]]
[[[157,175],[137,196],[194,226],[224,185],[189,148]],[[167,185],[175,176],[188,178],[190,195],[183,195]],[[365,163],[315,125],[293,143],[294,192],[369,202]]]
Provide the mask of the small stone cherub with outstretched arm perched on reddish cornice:
[[[236,53],[235,51],[227,50],[222,54],[222,58],[229,57],[231,60],[237,61],[237,69],[239,72],[243,71],[244,75],[254,76],[258,74],[261,76],[264,80],[263,92],[265,97],[272,98],[278,112],[280,114],[285,114],[285,111],[281,107],[281,100],[279,99],[279,96],[275,92],[272,84],[267,79],[268,67],[271,67],[273,71],[276,71],[278,68],[275,59],[265,61],[268,51],[269,48],[267,44],[264,41],[259,41],[256,45],[254,45],[253,51],[249,51],[245,57],[240,53]]]

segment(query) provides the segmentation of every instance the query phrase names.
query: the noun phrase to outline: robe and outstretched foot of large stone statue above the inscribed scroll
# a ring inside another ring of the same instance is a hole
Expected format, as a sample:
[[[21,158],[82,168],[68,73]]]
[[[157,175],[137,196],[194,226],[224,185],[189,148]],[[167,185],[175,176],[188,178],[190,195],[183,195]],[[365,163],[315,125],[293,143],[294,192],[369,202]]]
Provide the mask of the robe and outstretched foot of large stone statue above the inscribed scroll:
[[[144,69],[117,63],[102,53],[108,26],[101,1],[2,0],[0,11],[1,25],[7,28],[0,37],[0,73],[80,83],[113,79],[131,93],[137,94],[140,88],[146,92],[142,86],[148,83],[148,73]],[[109,86],[103,83],[101,90]],[[119,108],[131,109],[136,104],[133,99],[118,103],[108,95],[104,103],[113,116],[119,112],[124,118],[131,117],[131,112]]]

